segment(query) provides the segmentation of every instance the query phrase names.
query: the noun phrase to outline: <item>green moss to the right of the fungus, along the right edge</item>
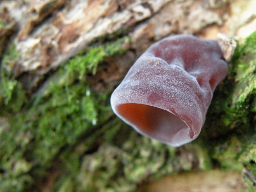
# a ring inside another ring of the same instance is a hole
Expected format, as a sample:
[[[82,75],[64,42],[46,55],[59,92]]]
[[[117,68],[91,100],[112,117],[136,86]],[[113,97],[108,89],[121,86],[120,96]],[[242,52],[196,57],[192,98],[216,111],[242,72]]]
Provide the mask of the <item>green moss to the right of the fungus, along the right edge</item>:
[[[222,91],[222,94],[218,91]],[[213,158],[221,168],[241,171],[254,191],[256,181],[256,32],[235,50],[228,78],[217,90],[211,112],[213,123],[208,130],[217,133],[213,143]],[[216,115],[216,116],[214,116]],[[207,120],[206,120],[207,121]],[[207,125],[206,125],[207,126]],[[207,130],[207,128],[206,128]],[[211,132],[210,132],[211,133]],[[213,133],[213,134],[214,134]],[[219,134],[221,133],[221,134]],[[209,142],[209,140],[208,140]],[[209,144],[208,144],[209,145]],[[211,147],[209,148],[211,149]]]

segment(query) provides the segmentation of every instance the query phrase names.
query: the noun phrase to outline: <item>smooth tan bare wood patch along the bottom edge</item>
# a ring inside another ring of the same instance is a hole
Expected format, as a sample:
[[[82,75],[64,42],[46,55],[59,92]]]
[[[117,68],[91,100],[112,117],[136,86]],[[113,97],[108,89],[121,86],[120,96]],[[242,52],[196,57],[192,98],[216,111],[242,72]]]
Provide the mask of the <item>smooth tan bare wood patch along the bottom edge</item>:
[[[220,170],[169,175],[154,183],[141,186],[136,192],[235,192],[245,189],[239,172]]]

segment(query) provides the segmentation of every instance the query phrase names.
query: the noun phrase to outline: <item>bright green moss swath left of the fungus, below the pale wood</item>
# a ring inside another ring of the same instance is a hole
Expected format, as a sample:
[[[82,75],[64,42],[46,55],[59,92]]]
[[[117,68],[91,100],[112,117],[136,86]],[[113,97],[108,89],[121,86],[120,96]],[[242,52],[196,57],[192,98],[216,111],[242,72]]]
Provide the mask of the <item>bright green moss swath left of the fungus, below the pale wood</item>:
[[[10,47],[1,64],[0,191],[25,191],[42,181],[62,150],[90,135],[103,123],[99,119],[110,117],[109,112],[102,117],[102,111],[111,110],[108,92],[93,93],[86,74],[95,74],[104,58],[126,51],[123,43],[128,42],[125,37],[87,48],[62,64],[29,99],[10,70],[18,57]]]

